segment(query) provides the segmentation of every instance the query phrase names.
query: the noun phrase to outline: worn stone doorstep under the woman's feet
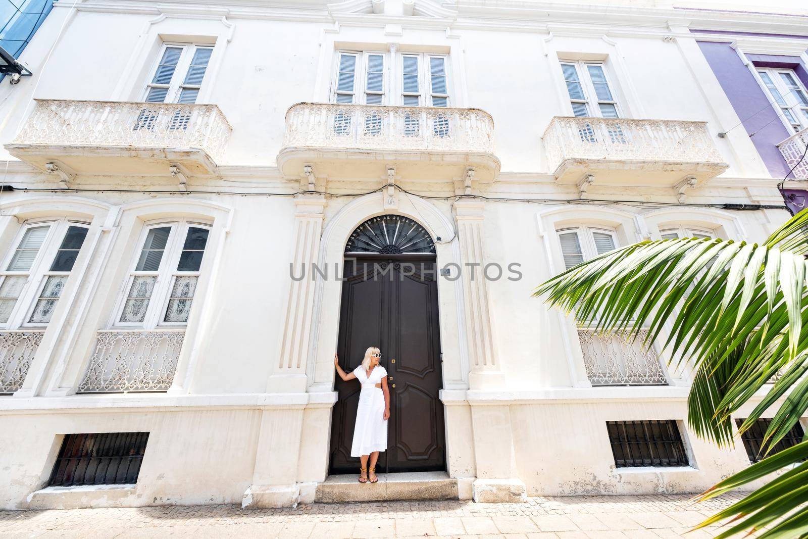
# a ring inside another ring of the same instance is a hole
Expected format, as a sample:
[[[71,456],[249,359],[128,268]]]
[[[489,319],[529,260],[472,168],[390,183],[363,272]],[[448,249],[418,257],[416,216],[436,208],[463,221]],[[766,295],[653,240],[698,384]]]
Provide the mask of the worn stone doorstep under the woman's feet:
[[[359,474],[331,475],[317,486],[314,501],[321,503],[389,500],[457,499],[457,479],[446,472],[378,474],[377,483],[360,483]]]

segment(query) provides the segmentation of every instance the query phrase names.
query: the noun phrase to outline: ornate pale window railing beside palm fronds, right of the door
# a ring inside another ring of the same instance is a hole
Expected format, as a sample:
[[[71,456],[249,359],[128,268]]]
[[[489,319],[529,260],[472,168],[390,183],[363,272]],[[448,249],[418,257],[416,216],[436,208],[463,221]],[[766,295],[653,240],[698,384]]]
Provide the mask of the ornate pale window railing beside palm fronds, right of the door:
[[[648,332],[637,339],[625,333],[602,335],[579,330],[583,361],[591,385],[667,385],[659,357],[652,348],[642,347]]]

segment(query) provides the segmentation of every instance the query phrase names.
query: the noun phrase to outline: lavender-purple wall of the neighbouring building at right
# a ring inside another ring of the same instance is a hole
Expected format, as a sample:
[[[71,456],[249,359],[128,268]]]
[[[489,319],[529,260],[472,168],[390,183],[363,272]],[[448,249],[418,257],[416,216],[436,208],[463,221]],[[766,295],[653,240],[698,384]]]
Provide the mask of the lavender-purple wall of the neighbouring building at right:
[[[701,53],[705,55],[707,63],[718,82],[721,84],[727,99],[742,120],[743,128],[751,137],[752,143],[763,159],[769,173],[774,178],[785,178],[789,172],[785,159],[777,149],[777,143],[785,141],[791,136],[789,130],[785,128],[782,120],[777,117],[778,112],[769,103],[760,84],[755,80],[749,68],[743,65],[743,61],[730,47],[729,43],[718,43],[713,41],[699,41]],[[762,57],[761,62],[775,61],[775,59],[790,58],[797,61],[797,65],[802,69],[802,74],[808,77],[806,70],[799,64],[799,58],[793,57]],[[751,61],[756,61],[750,58]],[[763,65],[761,65],[763,66]],[[777,65],[785,67],[785,65]],[[803,79],[806,82],[808,78]]]

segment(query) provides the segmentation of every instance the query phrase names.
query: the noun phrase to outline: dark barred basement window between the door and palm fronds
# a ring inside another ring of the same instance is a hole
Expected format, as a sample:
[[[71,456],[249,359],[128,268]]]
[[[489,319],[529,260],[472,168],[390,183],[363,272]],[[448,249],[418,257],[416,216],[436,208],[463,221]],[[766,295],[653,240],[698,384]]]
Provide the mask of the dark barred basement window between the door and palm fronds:
[[[606,427],[618,468],[690,465],[675,419],[607,421]]]

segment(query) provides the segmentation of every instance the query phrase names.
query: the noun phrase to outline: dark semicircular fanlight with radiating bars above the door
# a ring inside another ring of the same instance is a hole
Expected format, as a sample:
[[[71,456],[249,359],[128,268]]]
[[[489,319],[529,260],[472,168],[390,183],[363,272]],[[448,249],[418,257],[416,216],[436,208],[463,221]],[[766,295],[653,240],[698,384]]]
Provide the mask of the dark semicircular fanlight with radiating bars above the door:
[[[435,242],[409,217],[380,215],[356,227],[345,246],[347,254],[427,255],[435,254]]]

